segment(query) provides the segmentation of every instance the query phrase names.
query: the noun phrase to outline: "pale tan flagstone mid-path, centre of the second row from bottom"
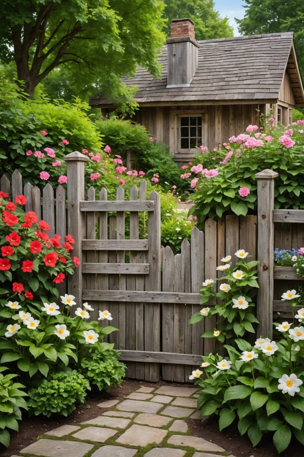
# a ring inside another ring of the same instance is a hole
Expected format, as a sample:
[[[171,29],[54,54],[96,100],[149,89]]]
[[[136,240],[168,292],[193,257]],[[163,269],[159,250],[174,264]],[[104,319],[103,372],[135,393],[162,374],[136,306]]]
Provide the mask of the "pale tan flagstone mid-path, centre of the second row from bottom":
[[[160,443],[167,435],[167,430],[147,427],[145,425],[132,425],[123,435],[116,440],[118,443],[130,446],[148,446],[151,443]]]

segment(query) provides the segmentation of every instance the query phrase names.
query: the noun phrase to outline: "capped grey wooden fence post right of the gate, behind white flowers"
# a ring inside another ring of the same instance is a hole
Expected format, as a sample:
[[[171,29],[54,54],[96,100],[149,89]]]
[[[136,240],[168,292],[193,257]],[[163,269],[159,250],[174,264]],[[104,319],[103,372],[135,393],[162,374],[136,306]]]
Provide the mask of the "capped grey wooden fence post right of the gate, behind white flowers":
[[[272,338],[273,333],[273,207],[274,181],[278,176],[273,170],[263,170],[255,175],[258,181],[258,297],[257,336]]]

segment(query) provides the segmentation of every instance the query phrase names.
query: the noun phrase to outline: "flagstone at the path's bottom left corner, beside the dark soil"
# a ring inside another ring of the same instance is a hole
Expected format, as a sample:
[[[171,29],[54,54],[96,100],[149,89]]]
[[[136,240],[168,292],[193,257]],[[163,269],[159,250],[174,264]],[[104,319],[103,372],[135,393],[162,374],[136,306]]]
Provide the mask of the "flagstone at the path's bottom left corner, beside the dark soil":
[[[45,440],[42,438],[41,440],[36,441],[36,443],[30,444],[30,446],[22,449],[22,453],[44,457],[83,457],[92,447],[93,444],[81,443],[79,441]]]

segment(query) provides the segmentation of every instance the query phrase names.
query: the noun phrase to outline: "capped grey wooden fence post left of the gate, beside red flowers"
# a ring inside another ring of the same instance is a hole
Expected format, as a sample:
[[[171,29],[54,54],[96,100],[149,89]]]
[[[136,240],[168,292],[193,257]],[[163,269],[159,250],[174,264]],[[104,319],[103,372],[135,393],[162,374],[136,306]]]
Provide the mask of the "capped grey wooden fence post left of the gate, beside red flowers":
[[[79,202],[84,200],[84,162],[88,157],[78,151],[66,155],[67,162],[67,233],[75,240],[72,256],[80,260],[80,266],[74,269],[74,274],[68,276],[68,292],[75,296],[78,306],[82,304],[82,220]]]

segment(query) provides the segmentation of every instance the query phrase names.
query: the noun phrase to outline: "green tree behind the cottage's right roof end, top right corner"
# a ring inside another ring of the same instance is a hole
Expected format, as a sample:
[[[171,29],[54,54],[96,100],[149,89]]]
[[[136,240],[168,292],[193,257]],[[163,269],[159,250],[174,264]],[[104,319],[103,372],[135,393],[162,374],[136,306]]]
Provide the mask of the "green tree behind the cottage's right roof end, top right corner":
[[[299,66],[304,75],[304,8],[298,0],[245,0],[243,19],[236,19],[242,35],[294,32]]]

